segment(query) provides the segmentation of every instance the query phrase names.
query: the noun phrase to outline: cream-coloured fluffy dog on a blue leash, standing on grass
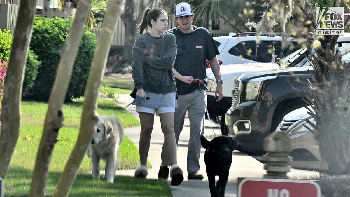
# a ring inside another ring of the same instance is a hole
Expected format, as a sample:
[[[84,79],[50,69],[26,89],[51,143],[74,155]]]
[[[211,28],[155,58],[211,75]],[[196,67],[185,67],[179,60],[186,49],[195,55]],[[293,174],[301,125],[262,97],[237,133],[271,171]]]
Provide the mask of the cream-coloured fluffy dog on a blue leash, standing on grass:
[[[113,183],[119,165],[118,148],[124,138],[124,130],[118,118],[100,116],[96,133],[87,155],[91,158],[92,177],[100,179],[100,159],[104,159],[105,178]]]

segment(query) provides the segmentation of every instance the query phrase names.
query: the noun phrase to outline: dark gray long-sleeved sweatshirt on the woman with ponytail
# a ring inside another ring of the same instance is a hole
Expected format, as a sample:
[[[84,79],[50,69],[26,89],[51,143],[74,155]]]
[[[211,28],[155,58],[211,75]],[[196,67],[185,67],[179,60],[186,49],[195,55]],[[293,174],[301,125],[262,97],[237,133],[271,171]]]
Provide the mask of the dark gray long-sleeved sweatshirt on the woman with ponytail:
[[[160,37],[153,37],[145,33],[138,36],[131,64],[136,88],[159,94],[176,91],[172,71],[176,53],[174,34],[165,32]]]

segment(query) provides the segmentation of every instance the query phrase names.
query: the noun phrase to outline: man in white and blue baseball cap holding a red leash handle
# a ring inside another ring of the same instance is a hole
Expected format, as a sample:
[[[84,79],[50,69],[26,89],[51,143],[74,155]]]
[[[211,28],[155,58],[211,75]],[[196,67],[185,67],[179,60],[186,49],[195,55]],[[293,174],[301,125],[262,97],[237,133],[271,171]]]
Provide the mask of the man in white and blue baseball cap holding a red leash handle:
[[[176,77],[177,94],[179,96],[175,108],[175,138],[179,142],[183,128],[185,114],[188,111],[190,121],[190,138],[187,153],[188,179],[203,179],[200,169],[199,157],[201,153],[200,136],[204,132],[205,105],[207,96],[206,83],[194,82],[194,79],[205,80],[205,61],[209,60],[210,67],[217,80],[215,97],[222,99],[223,87],[220,74],[219,61],[216,55],[219,51],[211,37],[210,32],[203,27],[192,25],[194,14],[192,7],[185,2],[175,7],[175,21],[178,27],[168,30],[176,37],[177,54],[173,72]]]

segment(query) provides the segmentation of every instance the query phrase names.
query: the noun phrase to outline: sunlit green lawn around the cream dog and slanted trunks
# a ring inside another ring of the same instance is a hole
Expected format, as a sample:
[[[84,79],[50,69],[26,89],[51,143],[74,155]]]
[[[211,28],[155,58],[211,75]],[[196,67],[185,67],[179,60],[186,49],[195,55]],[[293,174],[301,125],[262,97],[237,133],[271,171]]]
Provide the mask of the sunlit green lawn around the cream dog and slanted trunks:
[[[78,99],[63,106],[64,125],[59,129],[58,142],[52,153],[47,195],[54,192],[60,172],[77,139],[82,102],[82,99]],[[121,109],[110,99],[99,99],[98,103],[99,115],[111,115]],[[21,104],[20,136],[5,178],[5,196],[28,195],[46,111],[47,103],[23,101]],[[139,125],[138,120],[125,110],[119,111],[116,116],[125,128]],[[126,136],[119,148],[119,161],[121,169],[135,169],[139,165],[138,149]],[[103,167],[104,162],[101,163]],[[114,183],[110,184],[103,180],[103,176],[102,180],[93,180],[90,170],[90,159],[85,155],[69,196],[171,196],[171,189],[165,181],[116,176]]]

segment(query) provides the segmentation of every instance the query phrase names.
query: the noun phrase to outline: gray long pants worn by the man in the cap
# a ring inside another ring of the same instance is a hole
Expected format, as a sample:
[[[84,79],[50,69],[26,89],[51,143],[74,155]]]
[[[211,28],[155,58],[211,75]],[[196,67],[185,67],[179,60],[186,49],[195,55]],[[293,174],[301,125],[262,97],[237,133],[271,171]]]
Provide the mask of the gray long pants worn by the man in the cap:
[[[187,150],[187,171],[197,172],[200,169],[201,135],[204,133],[205,104],[207,95],[205,90],[195,90],[193,93],[181,95],[177,99],[174,115],[174,131],[176,144],[179,144],[180,133],[183,128],[186,112],[190,121],[190,138]]]

